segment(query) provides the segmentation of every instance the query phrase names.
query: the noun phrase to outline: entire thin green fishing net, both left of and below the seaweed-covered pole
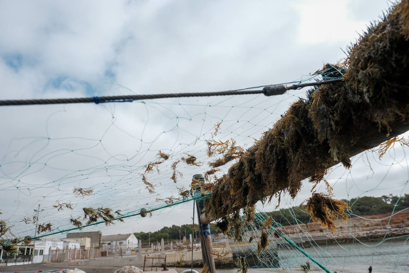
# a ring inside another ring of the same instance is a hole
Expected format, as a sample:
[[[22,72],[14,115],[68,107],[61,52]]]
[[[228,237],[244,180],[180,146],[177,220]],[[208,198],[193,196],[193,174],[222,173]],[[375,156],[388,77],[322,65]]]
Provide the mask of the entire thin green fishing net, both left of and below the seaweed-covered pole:
[[[344,75],[345,70],[329,65],[294,82],[334,78],[334,69],[336,77]],[[247,149],[299,97],[308,99],[305,90],[294,90],[273,97],[32,106],[31,117],[19,126],[5,122],[7,134],[1,136],[8,143],[0,158],[1,235],[12,239],[87,230],[140,214],[155,217],[191,202],[191,177],[205,173],[213,160],[207,140]],[[12,117],[19,109],[0,111]],[[294,199],[283,195],[281,202],[259,205],[254,221],[238,214],[235,232],[240,236],[232,236],[242,239],[232,248],[242,272],[407,272],[408,144],[398,136],[360,153],[351,159],[351,168],[336,165],[321,182],[303,183]],[[220,166],[216,176],[227,167]],[[345,199],[349,206],[348,221],[336,220],[334,232],[306,217],[303,201],[321,193]],[[33,213],[39,202],[40,212]],[[275,206],[281,210],[267,213]]]

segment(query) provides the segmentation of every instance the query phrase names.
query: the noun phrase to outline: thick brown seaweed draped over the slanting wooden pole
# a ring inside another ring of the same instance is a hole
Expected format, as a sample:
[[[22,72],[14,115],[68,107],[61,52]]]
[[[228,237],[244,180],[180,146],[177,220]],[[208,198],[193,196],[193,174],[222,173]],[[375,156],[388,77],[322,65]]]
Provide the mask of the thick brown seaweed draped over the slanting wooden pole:
[[[313,176],[316,182],[339,162],[349,168],[351,156],[407,131],[408,18],[409,2],[401,1],[372,23],[348,48],[348,58],[336,64],[346,71],[343,81],[324,84],[310,99],[294,102],[272,129],[217,179],[205,200],[207,214],[214,219],[234,215],[240,208],[259,200],[271,201],[282,193],[294,198],[301,180]],[[312,196],[314,201],[317,196]],[[329,206],[324,210],[335,213]],[[328,223],[315,207],[311,212],[315,219]]]

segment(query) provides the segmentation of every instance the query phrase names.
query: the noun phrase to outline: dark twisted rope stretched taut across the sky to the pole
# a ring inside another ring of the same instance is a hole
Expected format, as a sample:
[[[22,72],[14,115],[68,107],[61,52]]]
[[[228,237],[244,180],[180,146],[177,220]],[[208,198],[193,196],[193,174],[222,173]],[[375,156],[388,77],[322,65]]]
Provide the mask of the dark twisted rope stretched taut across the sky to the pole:
[[[294,84],[292,86],[284,85],[269,85],[262,90],[230,90],[221,92],[199,92],[199,93],[167,93],[167,94],[146,94],[146,95],[119,95],[119,96],[104,96],[104,97],[83,97],[83,98],[66,98],[66,99],[16,99],[16,100],[0,100],[0,106],[10,105],[34,105],[34,104],[71,104],[71,103],[89,103],[95,104],[104,102],[133,102],[141,99],[164,99],[164,98],[179,98],[179,97],[210,97],[210,96],[226,96],[226,95],[252,95],[264,94],[266,96],[281,95],[287,90],[299,89],[306,86],[319,86],[326,83],[335,83],[342,81],[342,78],[330,79],[324,81],[315,81],[310,83]]]

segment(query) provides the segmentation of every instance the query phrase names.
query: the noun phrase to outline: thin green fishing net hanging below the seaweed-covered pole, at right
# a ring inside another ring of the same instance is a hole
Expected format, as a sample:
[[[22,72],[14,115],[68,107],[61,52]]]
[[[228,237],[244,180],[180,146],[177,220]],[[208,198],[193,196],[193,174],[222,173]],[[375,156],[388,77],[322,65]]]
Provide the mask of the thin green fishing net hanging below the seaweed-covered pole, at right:
[[[242,241],[232,246],[237,259],[243,258],[250,271],[292,268],[298,272],[306,262],[310,272],[368,272],[370,266],[376,272],[407,271],[407,151],[407,146],[401,143],[381,159],[380,151],[367,151],[352,158],[351,169],[337,165],[327,174],[325,180],[332,191],[349,205],[348,221],[335,220],[334,232],[312,222],[303,207],[306,201],[301,200],[303,196],[308,199],[311,191],[326,192],[325,182],[314,189],[311,185],[303,188],[294,200],[284,197],[280,206],[285,209],[272,213],[256,210],[254,222],[240,226]],[[388,194],[384,195],[385,192]],[[373,202],[375,199],[378,201]],[[263,240],[268,243],[260,251]]]

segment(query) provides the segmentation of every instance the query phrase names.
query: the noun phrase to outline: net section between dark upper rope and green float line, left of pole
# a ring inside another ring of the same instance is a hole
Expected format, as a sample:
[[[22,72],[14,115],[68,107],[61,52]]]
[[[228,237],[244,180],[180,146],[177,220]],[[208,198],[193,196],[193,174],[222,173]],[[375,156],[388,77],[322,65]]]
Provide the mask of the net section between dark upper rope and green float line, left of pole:
[[[220,141],[246,147],[304,93],[34,106],[40,109],[29,122],[5,129],[16,137],[3,146],[0,162],[2,219],[16,237],[34,237],[38,203],[38,223],[51,223],[44,236],[85,226],[90,216],[89,224],[104,226],[112,220],[104,215],[125,221],[141,209],[150,216],[191,201],[191,178],[208,169],[206,140],[216,127]],[[20,109],[0,110],[13,115]],[[83,219],[83,208],[94,211]]]

